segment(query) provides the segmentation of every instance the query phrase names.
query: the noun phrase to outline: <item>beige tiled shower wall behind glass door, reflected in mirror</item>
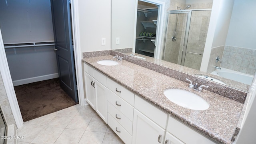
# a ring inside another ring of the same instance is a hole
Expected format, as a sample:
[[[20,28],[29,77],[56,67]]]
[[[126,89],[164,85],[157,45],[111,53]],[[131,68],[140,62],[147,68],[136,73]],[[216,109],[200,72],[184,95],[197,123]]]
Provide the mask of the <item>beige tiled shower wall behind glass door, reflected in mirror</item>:
[[[177,6],[180,6],[184,9],[186,6],[191,5],[189,9],[198,9],[198,8],[212,8],[212,3],[198,3],[198,4],[184,4],[177,1],[171,1],[170,7],[168,10],[177,10]],[[188,40],[188,49],[191,49],[191,52],[201,53],[204,52],[204,44],[206,40],[206,34],[208,30],[208,24],[210,21],[210,11],[205,12],[193,12],[191,24],[190,24],[190,35]],[[172,16],[170,16],[172,15]],[[172,36],[174,36],[174,30],[176,26],[176,16],[177,14],[169,14],[168,21],[168,30],[166,33],[166,41],[164,48],[164,60],[172,63],[180,64],[182,58],[182,50],[184,43],[184,34],[186,24],[185,17],[182,18],[183,14],[179,15],[180,18],[180,32],[176,36],[176,41],[172,41]],[[201,25],[201,26],[200,26]],[[177,26],[178,27],[178,26]],[[187,54],[185,59],[184,66],[188,66],[194,69],[200,69],[202,60],[202,55]]]

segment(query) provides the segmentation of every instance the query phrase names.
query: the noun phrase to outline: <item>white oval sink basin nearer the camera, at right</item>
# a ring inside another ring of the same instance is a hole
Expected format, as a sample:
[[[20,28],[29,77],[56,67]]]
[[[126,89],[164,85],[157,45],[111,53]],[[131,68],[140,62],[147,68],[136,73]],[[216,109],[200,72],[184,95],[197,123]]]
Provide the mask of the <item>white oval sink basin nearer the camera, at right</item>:
[[[192,110],[206,110],[209,108],[209,104],[203,98],[186,90],[168,89],[164,91],[164,95],[170,101],[185,108]]]

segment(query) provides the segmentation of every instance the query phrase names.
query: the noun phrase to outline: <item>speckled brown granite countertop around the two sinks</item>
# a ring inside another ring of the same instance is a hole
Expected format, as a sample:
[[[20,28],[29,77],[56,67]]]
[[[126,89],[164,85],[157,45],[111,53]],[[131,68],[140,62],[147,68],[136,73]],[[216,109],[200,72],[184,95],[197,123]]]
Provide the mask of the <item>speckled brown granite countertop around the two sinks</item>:
[[[207,90],[203,90],[203,92],[191,90],[186,82],[126,60],[117,61],[119,64],[115,66],[103,66],[97,63],[99,60],[114,60],[111,55],[84,58],[82,60],[216,142],[231,144],[232,139],[234,140],[233,135],[237,132],[236,129],[239,129],[237,124],[244,104]],[[163,93],[164,90],[169,88],[179,88],[193,92],[206,100],[210,107],[207,110],[191,110],[174,104]]]

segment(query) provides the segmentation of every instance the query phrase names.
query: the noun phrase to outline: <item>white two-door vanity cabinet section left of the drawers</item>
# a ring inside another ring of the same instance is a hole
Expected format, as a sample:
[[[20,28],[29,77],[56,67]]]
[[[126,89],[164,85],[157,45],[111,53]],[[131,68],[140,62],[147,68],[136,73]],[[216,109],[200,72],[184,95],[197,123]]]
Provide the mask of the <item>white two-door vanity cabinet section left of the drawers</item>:
[[[107,77],[91,66],[84,64],[86,100],[107,123]]]

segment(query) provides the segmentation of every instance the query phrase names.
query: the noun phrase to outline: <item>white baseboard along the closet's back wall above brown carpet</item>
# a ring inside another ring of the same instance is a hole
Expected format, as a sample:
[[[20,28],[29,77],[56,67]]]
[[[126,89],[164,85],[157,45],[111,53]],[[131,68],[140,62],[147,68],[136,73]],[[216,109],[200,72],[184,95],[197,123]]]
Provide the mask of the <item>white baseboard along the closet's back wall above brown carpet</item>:
[[[13,86],[20,86],[22,84],[29,84],[29,83],[32,83],[32,82],[39,82],[39,81],[42,81],[42,80],[49,80],[49,79],[58,78],[58,77],[59,77],[58,73],[47,74],[47,75],[44,75],[44,76],[36,76],[36,77],[33,77],[33,78],[25,78],[25,79],[22,79],[22,80],[14,80],[14,81],[12,81],[12,83],[13,83]]]

